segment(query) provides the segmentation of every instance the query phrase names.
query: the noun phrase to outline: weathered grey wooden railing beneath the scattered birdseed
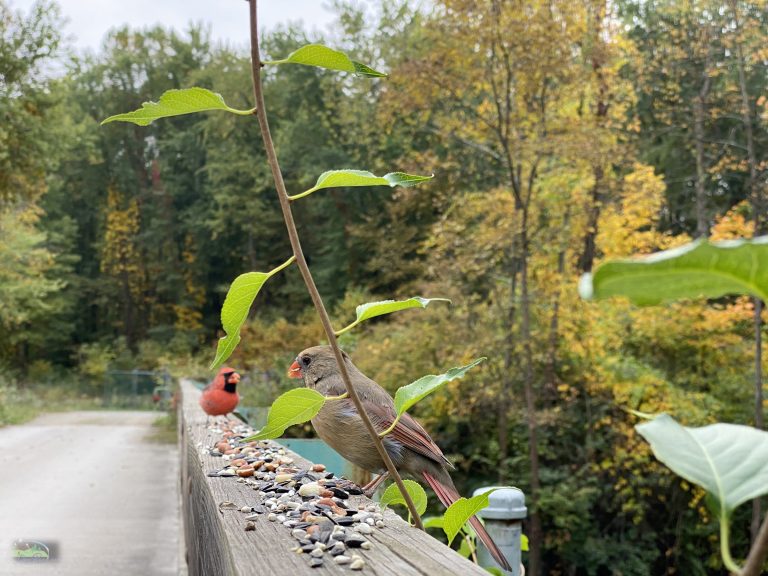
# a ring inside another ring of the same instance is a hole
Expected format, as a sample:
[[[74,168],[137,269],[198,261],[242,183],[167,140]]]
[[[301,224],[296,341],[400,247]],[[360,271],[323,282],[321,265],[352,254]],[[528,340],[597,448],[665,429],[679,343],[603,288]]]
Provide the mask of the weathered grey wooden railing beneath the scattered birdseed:
[[[311,568],[305,554],[291,552],[296,540],[291,531],[261,515],[256,529],[245,531],[243,506],[261,503],[253,487],[235,478],[208,477],[208,470],[222,467],[221,458],[209,456],[204,447],[219,438],[206,427],[207,417],[198,405],[200,391],[182,380],[180,452],[184,533],[190,576],[248,576],[274,574],[303,576],[328,574],[367,574],[371,576],[487,576],[487,572],[456,552],[412,528],[391,510],[384,511],[386,526],[369,536],[370,550],[356,549],[365,559],[362,572],[339,566],[326,555],[321,568]],[[295,465],[308,468],[311,462],[290,452]],[[233,502],[235,509],[219,509],[219,504]],[[363,496],[353,496],[350,506],[370,503]]]

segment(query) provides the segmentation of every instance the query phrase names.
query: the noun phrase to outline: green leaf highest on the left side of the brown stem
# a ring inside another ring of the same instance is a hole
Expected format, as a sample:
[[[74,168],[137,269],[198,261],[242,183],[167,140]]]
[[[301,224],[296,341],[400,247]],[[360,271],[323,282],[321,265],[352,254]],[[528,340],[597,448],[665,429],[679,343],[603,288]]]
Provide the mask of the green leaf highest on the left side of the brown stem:
[[[185,88],[183,90],[168,90],[160,96],[159,102],[144,102],[138,110],[110,116],[102,121],[102,125],[119,121],[147,126],[158,118],[180,116],[181,114],[204,112],[206,110],[224,110],[233,114],[247,116],[253,114],[255,108],[251,110],[236,110],[227,106],[221,94],[216,94],[205,88]]]

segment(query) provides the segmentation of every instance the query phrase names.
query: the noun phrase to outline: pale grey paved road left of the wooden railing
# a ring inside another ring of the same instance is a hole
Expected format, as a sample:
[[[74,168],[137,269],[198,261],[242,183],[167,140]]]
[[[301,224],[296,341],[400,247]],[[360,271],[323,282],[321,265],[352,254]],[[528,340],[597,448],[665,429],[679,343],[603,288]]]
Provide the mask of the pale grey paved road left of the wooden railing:
[[[176,576],[178,452],[152,412],[69,412],[0,428],[0,574]],[[17,539],[55,562],[11,560]]]

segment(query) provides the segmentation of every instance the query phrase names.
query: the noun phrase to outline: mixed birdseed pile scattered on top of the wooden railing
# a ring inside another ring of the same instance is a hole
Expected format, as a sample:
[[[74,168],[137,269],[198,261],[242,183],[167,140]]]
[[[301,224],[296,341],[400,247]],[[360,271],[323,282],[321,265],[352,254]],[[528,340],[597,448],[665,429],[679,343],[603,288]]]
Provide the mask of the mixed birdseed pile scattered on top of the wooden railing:
[[[353,505],[350,496],[362,494],[353,482],[326,473],[315,464],[302,469],[286,451],[270,442],[243,443],[253,434],[248,426],[230,423],[209,428],[221,433],[221,440],[205,453],[220,457],[224,466],[207,472],[212,477],[231,477],[252,486],[256,502],[239,507],[221,502],[221,509],[239,509],[245,530],[256,529],[256,522],[276,522],[296,540],[292,551],[305,555],[310,566],[324,562],[362,570],[362,550],[372,547],[366,537],[384,527],[384,516],[377,504]]]

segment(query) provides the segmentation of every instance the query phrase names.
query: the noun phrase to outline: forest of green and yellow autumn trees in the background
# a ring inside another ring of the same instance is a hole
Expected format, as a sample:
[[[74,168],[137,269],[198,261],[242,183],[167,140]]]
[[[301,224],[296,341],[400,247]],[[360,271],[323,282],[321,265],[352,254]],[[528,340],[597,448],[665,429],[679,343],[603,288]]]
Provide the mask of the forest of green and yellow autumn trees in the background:
[[[462,493],[528,494],[543,574],[721,574],[703,492],[653,458],[627,409],[759,423],[752,301],[639,309],[576,287],[607,258],[762,230],[764,3],[333,9],[325,36],[268,33],[265,58],[322,41],[390,77],[268,73],[289,191],[340,168],[435,179],[297,204],[320,292],[339,325],[360,302],[452,300],[370,323],[344,348],[390,390],[488,356],[414,412]],[[229,283],[290,255],[258,126],[99,122],[189,86],[249,108],[247,54],[190,26],[116,29],[73,56],[55,3],[22,14],[0,0],[0,16],[0,423],[52,390],[98,394],[109,369],[209,378]],[[300,285],[295,270],[275,277],[244,326],[231,363],[247,405],[292,386],[286,367],[322,340]]]

